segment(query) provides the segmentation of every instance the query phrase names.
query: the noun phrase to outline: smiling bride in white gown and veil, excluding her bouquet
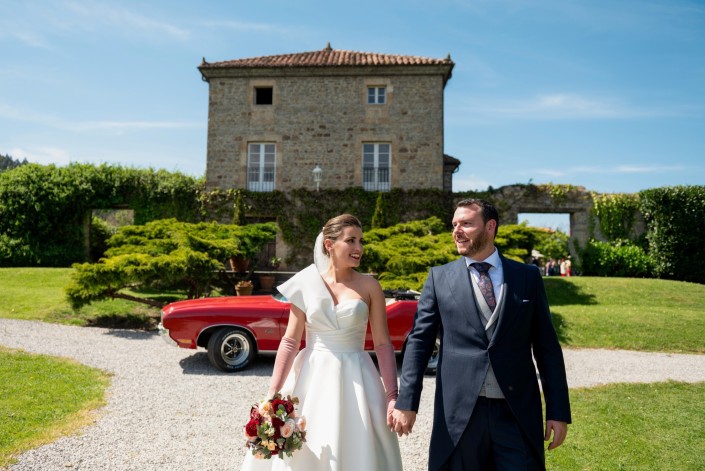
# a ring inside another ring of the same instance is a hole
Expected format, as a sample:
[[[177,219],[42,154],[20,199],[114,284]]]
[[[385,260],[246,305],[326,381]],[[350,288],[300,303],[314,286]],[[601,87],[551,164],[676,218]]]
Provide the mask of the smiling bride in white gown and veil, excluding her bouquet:
[[[362,242],[356,217],[330,219],[316,240],[316,263],[278,287],[291,313],[267,397],[281,392],[299,398],[296,412],[306,418],[306,443],[292,457],[270,460],[255,459],[248,450],[243,471],[402,469],[397,436],[390,430],[396,359],[382,289],[355,271]],[[382,381],[364,351],[368,321]],[[306,348],[298,352],[304,327]]]

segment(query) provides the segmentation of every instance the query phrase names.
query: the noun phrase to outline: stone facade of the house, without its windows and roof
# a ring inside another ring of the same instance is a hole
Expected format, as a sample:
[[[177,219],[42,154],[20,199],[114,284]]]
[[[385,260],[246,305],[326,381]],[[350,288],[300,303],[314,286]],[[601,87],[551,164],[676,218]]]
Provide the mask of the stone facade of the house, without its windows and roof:
[[[443,188],[441,74],[323,72],[209,80],[209,189],[246,188],[248,143],[263,142],[276,145],[277,190],[315,188],[316,164],[322,189],[362,186],[365,142],[391,144],[392,188]],[[253,104],[258,86],[273,87],[272,105]],[[368,105],[368,86],[386,87],[387,103]]]

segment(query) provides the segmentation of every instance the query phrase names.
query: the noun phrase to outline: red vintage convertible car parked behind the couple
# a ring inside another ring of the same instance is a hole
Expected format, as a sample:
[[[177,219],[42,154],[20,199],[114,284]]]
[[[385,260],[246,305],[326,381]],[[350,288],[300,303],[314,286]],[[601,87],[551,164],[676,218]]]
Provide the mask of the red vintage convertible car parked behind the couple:
[[[387,292],[387,322],[396,352],[402,352],[416,313],[416,292]],[[162,309],[159,332],[181,348],[204,347],[216,368],[235,372],[246,368],[259,352],[276,352],[289,321],[289,303],[271,296],[223,296],[190,299]],[[302,341],[302,346],[304,342]],[[369,327],[365,349],[374,350]],[[435,372],[438,343],[427,372]]]

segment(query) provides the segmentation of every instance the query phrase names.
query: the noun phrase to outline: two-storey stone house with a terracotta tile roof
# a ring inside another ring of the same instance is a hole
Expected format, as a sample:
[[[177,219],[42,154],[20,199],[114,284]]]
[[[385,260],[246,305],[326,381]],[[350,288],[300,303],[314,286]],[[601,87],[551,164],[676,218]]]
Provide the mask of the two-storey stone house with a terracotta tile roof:
[[[450,56],[330,45],[204,59],[198,69],[209,84],[206,186],[452,191],[460,161],[443,153],[443,92],[453,66]]]

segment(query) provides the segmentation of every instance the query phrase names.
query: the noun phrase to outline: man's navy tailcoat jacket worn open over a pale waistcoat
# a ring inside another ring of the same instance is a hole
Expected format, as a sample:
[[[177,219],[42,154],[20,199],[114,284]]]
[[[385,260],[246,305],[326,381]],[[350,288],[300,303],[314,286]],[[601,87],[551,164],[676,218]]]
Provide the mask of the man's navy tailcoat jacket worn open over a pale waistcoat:
[[[396,408],[418,411],[424,370],[440,335],[430,470],[442,466],[458,444],[490,363],[540,462],[544,462],[544,421],[532,352],[541,375],[546,419],[571,421],[563,353],[541,274],[534,265],[501,260],[506,293],[490,340],[465,258],[433,267],[424,284],[406,345]]]

